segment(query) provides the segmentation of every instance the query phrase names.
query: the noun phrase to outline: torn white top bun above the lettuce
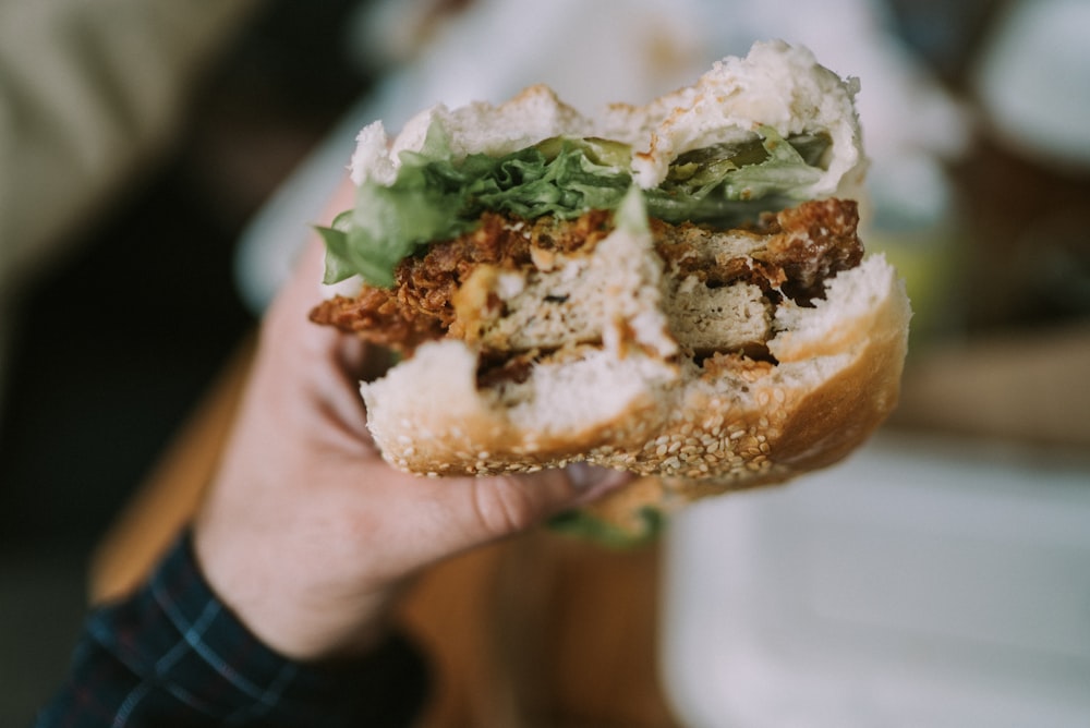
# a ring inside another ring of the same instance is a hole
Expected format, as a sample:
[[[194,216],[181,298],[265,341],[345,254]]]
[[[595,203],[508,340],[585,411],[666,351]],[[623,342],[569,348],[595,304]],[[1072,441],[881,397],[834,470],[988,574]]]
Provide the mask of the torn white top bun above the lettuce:
[[[598,136],[630,144],[632,174],[644,189],[666,178],[679,155],[714,144],[740,142],[759,126],[832,139],[825,173],[809,197],[855,197],[865,170],[855,109],[856,78],[841,80],[802,46],[782,40],[754,44],[746,58],[726,58],[686,88],[644,106],[608,105],[594,118],[564,104],[544,85],[530,86],[498,106],[479,101],[457,109],[434,106],[409,120],[390,139],[382,121],[360,132],[352,180],[392,182],[401,151],[420,151],[437,124],[455,157],[499,156],[553,136]]]

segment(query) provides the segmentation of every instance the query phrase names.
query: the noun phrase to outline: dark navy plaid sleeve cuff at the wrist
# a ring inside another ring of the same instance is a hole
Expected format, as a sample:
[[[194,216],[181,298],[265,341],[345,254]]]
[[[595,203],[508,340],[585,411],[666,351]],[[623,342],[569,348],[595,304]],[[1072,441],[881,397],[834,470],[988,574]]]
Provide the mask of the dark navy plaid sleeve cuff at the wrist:
[[[186,533],[132,597],[94,611],[38,728],[401,726],[423,704],[421,654],[392,634],[324,667],[272,652],[219,602]]]

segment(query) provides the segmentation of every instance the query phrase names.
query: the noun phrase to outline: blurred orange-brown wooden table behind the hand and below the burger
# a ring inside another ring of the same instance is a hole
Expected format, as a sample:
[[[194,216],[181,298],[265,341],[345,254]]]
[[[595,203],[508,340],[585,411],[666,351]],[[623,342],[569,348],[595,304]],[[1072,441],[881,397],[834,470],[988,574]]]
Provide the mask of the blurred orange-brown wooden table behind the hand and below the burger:
[[[94,602],[132,590],[197,508],[251,356],[246,343],[101,542]],[[437,675],[423,725],[676,725],[657,671],[659,560],[542,531],[433,569],[402,614]]]

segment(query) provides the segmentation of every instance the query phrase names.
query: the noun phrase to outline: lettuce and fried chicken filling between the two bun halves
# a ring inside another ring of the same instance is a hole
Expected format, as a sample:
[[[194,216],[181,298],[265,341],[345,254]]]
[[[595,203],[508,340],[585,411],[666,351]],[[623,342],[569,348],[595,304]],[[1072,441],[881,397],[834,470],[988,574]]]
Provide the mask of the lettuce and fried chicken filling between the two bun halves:
[[[459,158],[432,123],[419,149],[399,154],[396,175],[364,179],[353,209],[319,229],[325,282],[361,286],[312,319],[402,356],[462,340],[482,387],[525,380],[535,364],[579,359],[610,336],[658,360],[768,361],[776,307],[810,305],[862,259],[855,202],[802,202],[829,155],[826,134],[756,126],[679,155],[661,184],[640,189],[628,144],[556,136]],[[650,236],[657,262],[654,301],[623,316],[607,299],[649,287],[622,292],[615,280],[619,260],[643,255],[635,247],[595,255],[618,232]],[[640,321],[661,333],[625,332]]]

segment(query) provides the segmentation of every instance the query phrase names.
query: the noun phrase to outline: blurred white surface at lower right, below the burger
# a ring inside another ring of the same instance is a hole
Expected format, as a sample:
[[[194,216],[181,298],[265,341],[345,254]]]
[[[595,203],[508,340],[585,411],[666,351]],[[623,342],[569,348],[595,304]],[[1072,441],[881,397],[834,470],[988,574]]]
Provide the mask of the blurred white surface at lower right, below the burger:
[[[678,518],[687,726],[1090,726],[1090,461],[886,437]]]

